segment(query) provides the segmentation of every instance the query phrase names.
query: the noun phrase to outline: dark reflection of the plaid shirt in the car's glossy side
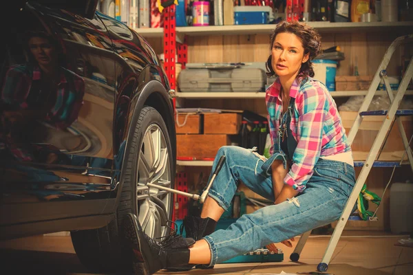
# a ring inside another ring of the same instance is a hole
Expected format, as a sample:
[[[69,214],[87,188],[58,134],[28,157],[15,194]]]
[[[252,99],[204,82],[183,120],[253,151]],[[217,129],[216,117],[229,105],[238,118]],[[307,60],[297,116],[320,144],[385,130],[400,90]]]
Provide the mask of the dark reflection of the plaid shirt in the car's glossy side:
[[[83,78],[60,67],[60,82],[56,90],[56,102],[47,111],[45,122],[57,129],[66,129],[77,118],[83,106],[83,96],[85,95],[85,82]],[[28,96],[33,84],[41,80],[41,70],[39,67],[30,65],[14,65],[10,67],[4,79],[3,89],[0,96],[0,107],[8,105],[8,109],[24,110],[39,108],[30,106],[33,102],[28,102]],[[38,91],[32,91],[38,92]],[[35,104],[41,104],[36,102]],[[0,114],[1,114],[0,110]],[[23,161],[32,161],[32,151],[39,151],[42,148],[34,144],[16,144],[14,140],[3,133],[0,126],[0,150],[8,148],[15,158]]]

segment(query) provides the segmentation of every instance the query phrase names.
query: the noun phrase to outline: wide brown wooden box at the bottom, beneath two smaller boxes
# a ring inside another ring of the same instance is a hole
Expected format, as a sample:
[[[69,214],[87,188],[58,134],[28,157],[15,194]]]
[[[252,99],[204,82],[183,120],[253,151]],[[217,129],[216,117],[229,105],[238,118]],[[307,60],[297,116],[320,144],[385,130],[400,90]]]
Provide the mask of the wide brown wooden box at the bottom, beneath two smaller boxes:
[[[229,144],[228,135],[176,135],[178,157],[215,157],[219,148]]]

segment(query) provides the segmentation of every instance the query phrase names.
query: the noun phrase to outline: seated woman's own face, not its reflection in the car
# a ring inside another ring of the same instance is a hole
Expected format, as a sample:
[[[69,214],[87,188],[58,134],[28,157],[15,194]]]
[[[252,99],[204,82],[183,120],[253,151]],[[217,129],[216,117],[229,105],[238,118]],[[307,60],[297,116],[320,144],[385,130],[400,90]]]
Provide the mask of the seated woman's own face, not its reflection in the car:
[[[294,76],[301,64],[308,61],[308,54],[304,55],[301,40],[289,32],[282,32],[275,36],[271,55],[274,72],[281,77]]]

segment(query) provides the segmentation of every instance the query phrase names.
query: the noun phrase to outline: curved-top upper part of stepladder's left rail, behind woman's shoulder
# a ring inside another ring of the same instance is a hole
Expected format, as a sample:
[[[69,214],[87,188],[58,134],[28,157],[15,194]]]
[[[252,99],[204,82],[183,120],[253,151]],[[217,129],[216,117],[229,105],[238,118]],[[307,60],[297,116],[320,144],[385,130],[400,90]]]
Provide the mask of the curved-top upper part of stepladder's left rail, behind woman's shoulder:
[[[381,80],[380,77],[380,72],[383,69],[386,69],[388,64],[390,63],[390,59],[392,58],[394,52],[396,51],[396,48],[403,44],[403,43],[408,43],[410,41],[413,41],[413,34],[405,35],[405,36],[400,36],[397,39],[395,39],[392,44],[390,44],[390,47],[388,47],[388,50],[385,51],[385,54],[383,56],[383,59],[377,68],[376,74],[374,74],[374,78],[372,80],[372,83],[370,83],[370,87],[368,88],[368,92],[366,96],[364,97],[363,103],[361,104],[361,107],[359,109],[359,113],[362,111],[367,111],[368,107],[370,106],[370,102],[372,102],[374,94],[376,94],[377,87],[379,87],[379,83]],[[347,140],[352,144],[354,137],[356,137],[357,131],[359,131],[359,126],[363,122],[363,117],[361,115],[358,115],[356,120],[354,120],[350,132],[348,133]]]

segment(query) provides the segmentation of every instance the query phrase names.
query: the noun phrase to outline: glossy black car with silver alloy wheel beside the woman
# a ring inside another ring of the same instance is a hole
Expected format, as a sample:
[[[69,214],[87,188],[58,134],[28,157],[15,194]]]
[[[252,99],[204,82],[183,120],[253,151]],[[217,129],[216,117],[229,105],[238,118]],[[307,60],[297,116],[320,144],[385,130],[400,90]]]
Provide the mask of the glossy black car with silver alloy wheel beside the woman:
[[[169,234],[173,90],[149,43],[98,0],[11,1],[0,51],[1,239],[70,231],[93,270],[125,265],[135,213]],[[65,3],[67,2],[67,3]]]

